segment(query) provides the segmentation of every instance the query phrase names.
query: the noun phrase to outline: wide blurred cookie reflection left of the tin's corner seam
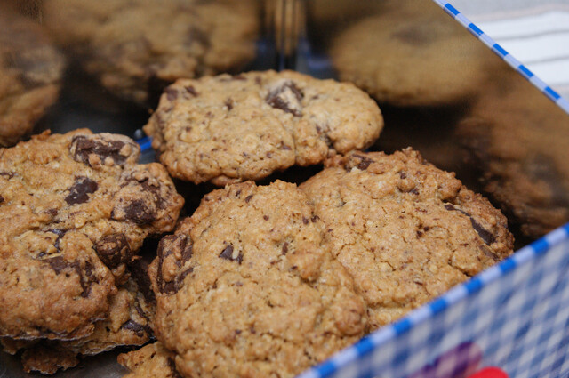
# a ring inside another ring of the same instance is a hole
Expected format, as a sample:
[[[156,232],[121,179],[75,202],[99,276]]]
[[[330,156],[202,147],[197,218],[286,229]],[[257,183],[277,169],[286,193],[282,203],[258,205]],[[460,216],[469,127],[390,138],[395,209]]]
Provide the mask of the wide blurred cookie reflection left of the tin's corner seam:
[[[124,99],[154,106],[164,86],[177,78],[237,71],[253,59],[255,4],[46,0],[44,20],[100,84]]]

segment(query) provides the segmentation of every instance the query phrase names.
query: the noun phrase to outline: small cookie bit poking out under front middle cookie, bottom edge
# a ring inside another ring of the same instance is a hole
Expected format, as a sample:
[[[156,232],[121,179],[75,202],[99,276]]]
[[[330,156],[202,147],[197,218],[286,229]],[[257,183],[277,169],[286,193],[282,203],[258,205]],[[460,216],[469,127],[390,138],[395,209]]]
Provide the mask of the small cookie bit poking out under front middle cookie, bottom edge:
[[[118,356],[118,363],[131,370],[123,378],[181,378],[174,362],[175,354],[162,342],[148,344]]]

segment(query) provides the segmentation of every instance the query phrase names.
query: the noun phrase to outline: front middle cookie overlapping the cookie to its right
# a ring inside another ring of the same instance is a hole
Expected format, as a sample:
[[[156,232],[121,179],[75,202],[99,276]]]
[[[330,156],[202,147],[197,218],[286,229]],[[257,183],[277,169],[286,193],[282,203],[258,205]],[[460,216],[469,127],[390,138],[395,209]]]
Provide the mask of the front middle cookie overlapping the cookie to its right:
[[[206,195],[149,269],[156,338],[180,374],[293,377],[367,330],[363,299],[295,185]]]

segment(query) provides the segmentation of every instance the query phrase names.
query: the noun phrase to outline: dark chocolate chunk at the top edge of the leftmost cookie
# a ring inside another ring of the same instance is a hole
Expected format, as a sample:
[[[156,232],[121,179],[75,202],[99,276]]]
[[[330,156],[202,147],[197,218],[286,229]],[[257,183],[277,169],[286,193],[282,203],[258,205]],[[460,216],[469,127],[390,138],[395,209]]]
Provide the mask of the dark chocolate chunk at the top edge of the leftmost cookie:
[[[121,155],[124,148],[124,141],[107,141],[94,139],[85,135],[76,135],[71,142],[71,153],[76,162],[91,165],[90,155],[100,157],[101,162],[107,158],[113,160],[116,165],[123,166],[128,156]]]

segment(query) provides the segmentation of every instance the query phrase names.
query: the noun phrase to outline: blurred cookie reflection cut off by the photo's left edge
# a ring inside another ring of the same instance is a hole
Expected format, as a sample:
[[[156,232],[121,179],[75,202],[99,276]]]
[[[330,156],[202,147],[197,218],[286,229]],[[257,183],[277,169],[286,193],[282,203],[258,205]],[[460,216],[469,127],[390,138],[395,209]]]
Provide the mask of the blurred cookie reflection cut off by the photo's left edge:
[[[0,6],[0,25],[0,146],[12,146],[57,100],[65,64],[36,22]]]

